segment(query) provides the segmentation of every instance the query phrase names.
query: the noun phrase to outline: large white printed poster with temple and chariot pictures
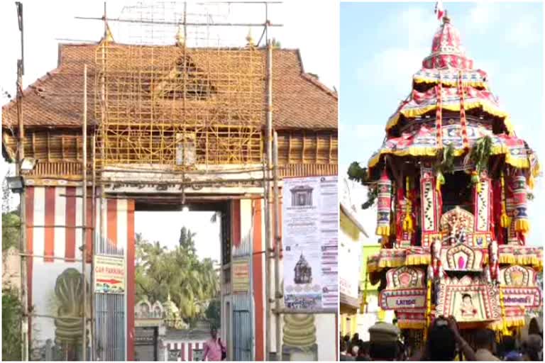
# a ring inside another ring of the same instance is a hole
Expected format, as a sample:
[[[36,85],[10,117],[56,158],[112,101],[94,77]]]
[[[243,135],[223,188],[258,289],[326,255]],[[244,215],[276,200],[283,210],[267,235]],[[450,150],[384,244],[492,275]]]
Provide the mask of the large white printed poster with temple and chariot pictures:
[[[283,182],[285,307],[337,308],[337,177],[286,178]]]

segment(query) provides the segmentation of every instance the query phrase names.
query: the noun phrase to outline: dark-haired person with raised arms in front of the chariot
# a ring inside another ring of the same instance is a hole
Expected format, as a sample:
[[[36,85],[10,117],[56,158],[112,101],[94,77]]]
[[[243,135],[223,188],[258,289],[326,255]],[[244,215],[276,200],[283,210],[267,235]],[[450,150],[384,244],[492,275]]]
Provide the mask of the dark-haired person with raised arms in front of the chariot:
[[[458,351],[466,360],[476,360],[475,352],[463,339],[453,316],[436,318],[428,330],[428,340],[420,352],[409,359],[412,361],[452,361]]]

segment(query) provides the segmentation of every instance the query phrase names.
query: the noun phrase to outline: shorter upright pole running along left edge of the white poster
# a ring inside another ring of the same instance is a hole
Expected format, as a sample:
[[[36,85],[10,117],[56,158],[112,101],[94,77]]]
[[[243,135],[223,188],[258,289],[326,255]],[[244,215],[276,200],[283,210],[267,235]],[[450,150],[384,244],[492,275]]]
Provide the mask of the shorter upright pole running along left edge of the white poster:
[[[275,208],[275,318],[276,318],[276,350],[277,360],[282,360],[282,342],[281,339],[281,322],[280,322],[280,299],[282,291],[280,291],[280,200],[278,197],[278,133],[275,131],[272,151],[274,152],[274,160],[272,163],[272,177],[274,178],[274,208]]]

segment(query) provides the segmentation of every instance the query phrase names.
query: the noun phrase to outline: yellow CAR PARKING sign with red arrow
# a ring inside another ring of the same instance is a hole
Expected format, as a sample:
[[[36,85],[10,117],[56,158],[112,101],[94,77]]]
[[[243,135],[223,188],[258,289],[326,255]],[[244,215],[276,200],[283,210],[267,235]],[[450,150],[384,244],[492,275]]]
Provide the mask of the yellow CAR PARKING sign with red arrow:
[[[123,257],[94,256],[94,292],[125,293],[125,260]]]

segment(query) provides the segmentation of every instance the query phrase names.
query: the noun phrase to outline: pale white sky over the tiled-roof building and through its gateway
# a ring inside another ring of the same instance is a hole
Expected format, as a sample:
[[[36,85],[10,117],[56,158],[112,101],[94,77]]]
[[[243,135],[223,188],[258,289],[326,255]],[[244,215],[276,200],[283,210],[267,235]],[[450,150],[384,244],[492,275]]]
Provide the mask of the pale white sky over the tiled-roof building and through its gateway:
[[[167,6],[172,6],[172,1],[164,1]],[[194,1],[193,1],[194,2]],[[188,13],[197,13],[197,10],[188,1]],[[126,6],[135,5],[136,1],[107,1],[106,11],[109,18],[128,18],[131,13]],[[151,4],[145,1],[145,4]],[[181,1],[177,10],[180,11]],[[312,72],[319,76],[321,82],[329,88],[338,89],[338,5],[336,1],[321,1],[320,6],[315,6],[312,0],[288,0],[284,4],[270,4],[268,18],[272,23],[282,24],[282,27],[270,28],[270,37],[280,41],[282,48],[299,48],[305,72]],[[263,6],[257,4],[213,6],[208,7],[213,14],[216,23],[241,22],[264,23],[265,11]],[[309,13],[312,16],[301,16]],[[166,9],[165,18],[170,20],[172,13]],[[104,1],[59,1],[59,0],[35,0],[23,1],[23,17],[25,32],[25,74],[24,86],[43,77],[46,72],[57,67],[57,55],[59,43],[78,43],[78,41],[97,42],[104,31],[101,21],[79,20],[76,16],[101,17],[104,11]],[[202,19],[199,19],[202,20]],[[167,35],[155,31],[155,37],[149,34],[128,33],[133,28],[112,22],[110,24],[114,40],[128,41],[136,38],[146,40],[159,40],[172,38],[175,42],[176,29],[170,28],[172,34]],[[263,28],[246,27],[229,32],[225,27],[222,31],[221,45],[245,45],[248,30],[257,42]],[[212,32],[214,30],[211,30]],[[0,57],[0,104],[6,104],[9,99],[4,96],[4,91],[15,96],[16,64],[21,54],[20,35],[16,16],[16,6],[13,1],[0,1],[0,34],[2,39],[2,52]],[[210,35],[214,38],[214,34]],[[72,40],[72,41],[70,41]],[[75,41],[73,41],[75,40]],[[189,36],[188,36],[189,42]],[[327,50],[327,57],[324,51]],[[1,161],[2,179],[9,169],[4,160]],[[17,203],[17,201],[14,201]],[[197,253],[200,257],[211,257],[219,260],[219,224],[210,223],[211,213],[189,212],[182,215],[181,212],[138,212],[136,213],[136,232],[143,233],[143,237],[150,241],[158,240],[164,245],[173,247],[180,236],[180,228],[186,225],[197,233],[195,240]],[[158,225],[161,227],[158,228]],[[214,247],[215,246],[215,247]],[[212,248],[210,248],[212,247]]]

